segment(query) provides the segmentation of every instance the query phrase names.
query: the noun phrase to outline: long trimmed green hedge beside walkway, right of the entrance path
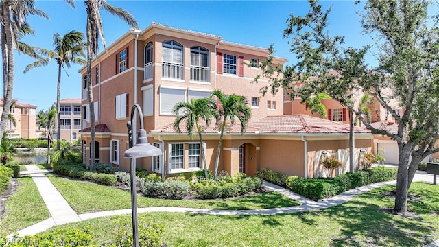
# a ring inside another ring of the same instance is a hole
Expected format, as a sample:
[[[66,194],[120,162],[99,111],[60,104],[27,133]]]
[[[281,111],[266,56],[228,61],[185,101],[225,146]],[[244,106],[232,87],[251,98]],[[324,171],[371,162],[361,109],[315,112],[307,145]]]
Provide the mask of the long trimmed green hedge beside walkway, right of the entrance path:
[[[322,200],[371,183],[396,179],[396,169],[373,167],[336,178],[297,178],[287,183],[287,188],[312,200]]]

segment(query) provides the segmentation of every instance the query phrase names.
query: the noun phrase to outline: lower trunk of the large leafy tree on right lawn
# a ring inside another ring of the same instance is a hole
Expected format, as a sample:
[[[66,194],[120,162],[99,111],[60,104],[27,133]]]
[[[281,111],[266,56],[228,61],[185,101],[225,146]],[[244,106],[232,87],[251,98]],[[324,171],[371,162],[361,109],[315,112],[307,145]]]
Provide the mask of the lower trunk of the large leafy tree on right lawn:
[[[396,177],[396,195],[394,210],[407,213],[408,163],[412,148],[410,144],[399,144],[398,174]]]

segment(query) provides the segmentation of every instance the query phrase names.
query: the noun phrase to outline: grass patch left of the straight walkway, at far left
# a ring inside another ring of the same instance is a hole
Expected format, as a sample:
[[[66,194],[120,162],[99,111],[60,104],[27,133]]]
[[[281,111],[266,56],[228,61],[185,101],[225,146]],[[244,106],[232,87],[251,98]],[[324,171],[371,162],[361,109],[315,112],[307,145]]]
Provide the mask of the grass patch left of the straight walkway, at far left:
[[[30,176],[17,178],[21,184],[5,202],[0,235],[8,235],[50,217],[46,204]]]

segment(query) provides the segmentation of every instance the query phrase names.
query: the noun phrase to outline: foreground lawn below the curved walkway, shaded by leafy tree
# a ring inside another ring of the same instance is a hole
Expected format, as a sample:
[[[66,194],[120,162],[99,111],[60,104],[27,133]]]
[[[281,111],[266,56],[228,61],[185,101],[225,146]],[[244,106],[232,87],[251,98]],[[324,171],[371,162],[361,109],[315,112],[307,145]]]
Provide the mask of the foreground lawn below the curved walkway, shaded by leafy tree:
[[[282,215],[216,216],[191,213],[147,213],[147,219],[165,226],[167,246],[423,246],[423,235],[438,239],[439,186],[414,183],[410,200],[416,215],[388,213],[394,186],[381,187],[350,202],[320,211]],[[62,227],[91,226],[95,244],[114,233],[115,220],[130,215],[104,217]],[[58,226],[57,228],[62,228]],[[432,240],[431,239],[431,240]],[[431,241],[430,240],[430,241]]]

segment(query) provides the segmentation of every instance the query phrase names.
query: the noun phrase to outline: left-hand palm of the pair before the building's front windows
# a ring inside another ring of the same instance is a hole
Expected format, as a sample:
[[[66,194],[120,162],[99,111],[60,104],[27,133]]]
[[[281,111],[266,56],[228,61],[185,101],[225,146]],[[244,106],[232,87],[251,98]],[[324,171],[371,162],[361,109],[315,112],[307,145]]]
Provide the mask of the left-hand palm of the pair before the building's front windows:
[[[180,114],[181,110],[183,110],[182,114]],[[177,116],[174,120],[174,130],[181,133],[180,124],[183,121],[186,121],[186,130],[190,139],[193,139],[194,130],[198,132],[198,137],[200,138],[200,152],[203,157],[204,175],[208,178],[209,174],[207,173],[206,156],[204,155],[201,133],[211,124],[212,117],[219,117],[215,102],[211,97],[191,99],[191,102],[177,103],[174,106],[173,112],[174,115]],[[200,121],[204,121],[204,124],[201,124]]]

